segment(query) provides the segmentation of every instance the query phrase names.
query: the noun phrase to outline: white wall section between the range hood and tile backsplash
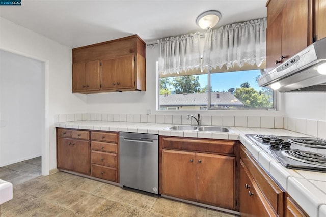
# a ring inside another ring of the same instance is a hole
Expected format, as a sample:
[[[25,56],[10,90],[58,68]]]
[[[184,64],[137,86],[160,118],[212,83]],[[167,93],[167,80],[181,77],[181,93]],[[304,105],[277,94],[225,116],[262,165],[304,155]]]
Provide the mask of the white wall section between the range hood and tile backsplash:
[[[282,110],[286,117],[326,121],[326,93],[283,93]]]

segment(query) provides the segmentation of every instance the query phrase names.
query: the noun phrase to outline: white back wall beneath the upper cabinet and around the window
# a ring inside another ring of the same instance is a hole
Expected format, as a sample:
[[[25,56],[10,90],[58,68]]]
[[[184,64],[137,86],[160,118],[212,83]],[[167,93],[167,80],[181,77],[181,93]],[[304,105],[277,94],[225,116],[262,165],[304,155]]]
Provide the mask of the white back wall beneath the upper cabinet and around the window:
[[[146,47],[146,92],[112,92],[89,94],[87,96],[88,113],[114,114],[197,114],[197,111],[156,111],[156,61],[158,46]],[[234,115],[234,116],[283,116],[282,111],[266,110],[218,110],[200,111],[203,115]]]

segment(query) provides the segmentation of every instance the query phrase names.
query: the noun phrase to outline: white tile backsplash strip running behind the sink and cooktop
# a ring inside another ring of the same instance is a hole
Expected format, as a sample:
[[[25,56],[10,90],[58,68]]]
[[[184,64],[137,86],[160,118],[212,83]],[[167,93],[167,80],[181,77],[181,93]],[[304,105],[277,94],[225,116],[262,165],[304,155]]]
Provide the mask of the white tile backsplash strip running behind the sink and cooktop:
[[[202,115],[202,125],[218,125],[231,127],[277,128],[295,131],[326,139],[326,121],[310,120],[292,117],[272,116],[214,116]],[[187,115],[163,114],[57,114],[55,123],[81,120],[139,122],[139,123],[167,123],[195,125],[194,118]],[[192,135],[189,135],[192,136]]]

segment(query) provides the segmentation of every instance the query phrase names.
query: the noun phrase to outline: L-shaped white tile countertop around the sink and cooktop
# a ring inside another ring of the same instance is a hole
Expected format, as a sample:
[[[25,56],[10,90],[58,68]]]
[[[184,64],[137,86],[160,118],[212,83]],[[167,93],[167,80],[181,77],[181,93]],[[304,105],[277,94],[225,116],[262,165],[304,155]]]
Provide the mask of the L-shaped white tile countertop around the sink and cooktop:
[[[55,123],[55,127],[103,130],[116,132],[134,132],[210,139],[240,140],[252,156],[279,182],[284,190],[306,211],[309,216],[325,216],[326,213],[326,173],[287,169],[275,158],[251,142],[245,134],[265,134],[276,136],[311,137],[284,129],[229,127],[234,133],[198,132],[164,130],[173,126],[164,123],[137,123],[112,121],[73,121]]]

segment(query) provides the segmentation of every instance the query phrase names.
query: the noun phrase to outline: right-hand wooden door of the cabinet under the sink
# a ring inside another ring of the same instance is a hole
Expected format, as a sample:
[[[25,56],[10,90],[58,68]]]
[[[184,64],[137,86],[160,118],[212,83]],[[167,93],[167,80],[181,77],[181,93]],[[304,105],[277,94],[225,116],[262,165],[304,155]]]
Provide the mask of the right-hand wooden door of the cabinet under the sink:
[[[196,153],[196,200],[235,208],[235,157]]]

